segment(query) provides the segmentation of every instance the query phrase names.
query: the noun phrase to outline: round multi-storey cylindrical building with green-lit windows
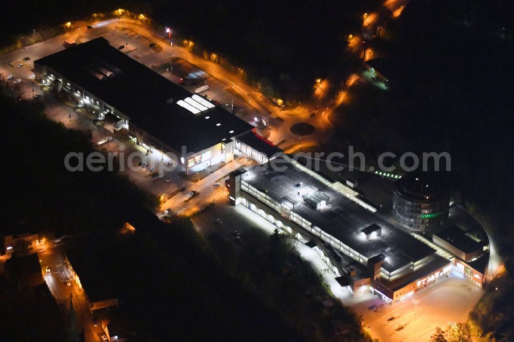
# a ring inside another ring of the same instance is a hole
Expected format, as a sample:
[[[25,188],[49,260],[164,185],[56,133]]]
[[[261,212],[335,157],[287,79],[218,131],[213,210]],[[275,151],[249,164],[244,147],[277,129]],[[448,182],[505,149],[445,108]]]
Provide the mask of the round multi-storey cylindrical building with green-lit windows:
[[[408,174],[396,181],[393,195],[393,217],[416,232],[440,229],[448,219],[448,188],[434,173]]]

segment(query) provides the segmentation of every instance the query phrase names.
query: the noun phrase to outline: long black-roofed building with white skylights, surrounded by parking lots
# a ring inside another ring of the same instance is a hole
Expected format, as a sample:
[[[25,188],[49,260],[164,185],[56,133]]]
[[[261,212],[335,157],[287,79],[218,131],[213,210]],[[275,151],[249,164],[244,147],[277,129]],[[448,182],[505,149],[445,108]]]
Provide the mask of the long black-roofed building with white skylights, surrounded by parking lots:
[[[103,37],[36,60],[34,69],[44,84],[68,92],[99,120],[114,118],[114,129],[135,143],[177,155],[186,172],[197,165],[233,160],[235,137],[253,128],[138,63]]]

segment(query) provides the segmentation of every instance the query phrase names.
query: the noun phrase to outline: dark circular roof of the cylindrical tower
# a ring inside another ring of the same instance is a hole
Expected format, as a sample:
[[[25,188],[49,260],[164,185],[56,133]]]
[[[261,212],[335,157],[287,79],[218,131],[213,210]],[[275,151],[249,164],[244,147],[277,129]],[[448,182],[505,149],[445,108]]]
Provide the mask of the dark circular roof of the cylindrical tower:
[[[435,173],[410,173],[398,179],[394,191],[399,196],[419,203],[432,203],[448,198],[444,180]]]

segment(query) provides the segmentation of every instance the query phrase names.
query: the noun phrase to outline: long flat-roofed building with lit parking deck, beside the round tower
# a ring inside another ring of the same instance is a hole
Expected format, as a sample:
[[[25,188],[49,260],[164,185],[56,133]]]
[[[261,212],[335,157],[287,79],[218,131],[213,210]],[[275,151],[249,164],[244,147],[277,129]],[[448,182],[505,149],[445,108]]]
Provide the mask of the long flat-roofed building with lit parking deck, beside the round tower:
[[[230,193],[232,203],[247,206],[284,232],[316,236],[352,258],[367,270],[363,279],[370,278],[371,291],[383,300],[405,299],[452,270],[451,254],[382,218],[351,188],[286,156],[274,162],[280,171],[268,165],[233,175],[241,185]]]

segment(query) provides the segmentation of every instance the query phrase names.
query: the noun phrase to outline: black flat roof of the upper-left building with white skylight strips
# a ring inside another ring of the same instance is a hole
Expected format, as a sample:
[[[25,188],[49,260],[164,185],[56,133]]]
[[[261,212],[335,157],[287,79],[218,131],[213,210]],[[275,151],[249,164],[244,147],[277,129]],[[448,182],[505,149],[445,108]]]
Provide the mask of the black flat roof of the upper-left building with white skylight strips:
[[[200,151],[252,128],[219,106],[194,114],[178,105],[177,101],[192,94],[118,51],[103,37],[34,64],[56,70],[177,151],[181,146],[187,146],[188,152]]]

